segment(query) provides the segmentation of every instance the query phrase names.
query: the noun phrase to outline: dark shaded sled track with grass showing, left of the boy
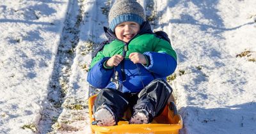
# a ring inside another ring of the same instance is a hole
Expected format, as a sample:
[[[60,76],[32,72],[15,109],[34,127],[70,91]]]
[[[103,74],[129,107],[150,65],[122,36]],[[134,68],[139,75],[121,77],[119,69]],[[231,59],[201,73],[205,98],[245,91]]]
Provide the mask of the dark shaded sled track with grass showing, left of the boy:
[[[83,0],[71,0],[68,3],[68,12],[65,26],[58,45],[56,60],[49,82],[47,100],[43,104],[37,133],[54,133],[52,125],[58,121],[63,112],[61,105],[65,101],[69,86],[70,69],[75,57],[74,50],[79,42],[81,23],[83,22]]]

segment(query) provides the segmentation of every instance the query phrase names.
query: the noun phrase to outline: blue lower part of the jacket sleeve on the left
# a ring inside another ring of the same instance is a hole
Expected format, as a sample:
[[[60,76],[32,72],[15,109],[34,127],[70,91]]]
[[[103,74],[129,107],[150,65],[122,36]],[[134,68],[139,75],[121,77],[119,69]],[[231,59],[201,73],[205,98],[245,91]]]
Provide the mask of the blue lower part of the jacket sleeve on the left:
[[[103,67],[104,62],[108,59],[109,57],[104,57],[88,71],[87,81],[95,88],[102,89],[109,84],[113,69]]]

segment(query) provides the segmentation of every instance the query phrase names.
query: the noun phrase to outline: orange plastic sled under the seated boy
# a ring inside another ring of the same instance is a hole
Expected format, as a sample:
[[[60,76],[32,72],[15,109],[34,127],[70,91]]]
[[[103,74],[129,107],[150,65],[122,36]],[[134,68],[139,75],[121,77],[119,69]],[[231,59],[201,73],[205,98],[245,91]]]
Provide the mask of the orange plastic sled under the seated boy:
[[[161,115],[154,118],[150,124],[129,124],[128,121],[119,121],[115,126],[97,126],[93,118],[93,105],[97,95],[88,100],[90,124],[93,133],[154,133],[154,134],[178,134],[183,126],[182,118],[177,113],[175,103],[172,101],[166,105]]]

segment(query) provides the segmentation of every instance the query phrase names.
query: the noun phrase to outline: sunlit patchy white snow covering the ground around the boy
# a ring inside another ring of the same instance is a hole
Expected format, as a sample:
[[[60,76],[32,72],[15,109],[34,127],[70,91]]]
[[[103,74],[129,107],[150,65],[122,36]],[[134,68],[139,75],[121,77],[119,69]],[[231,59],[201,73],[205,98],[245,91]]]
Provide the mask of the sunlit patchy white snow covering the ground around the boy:
[[[180,133],[256,133],[256,1],[139,2],[178,54]],[[113,1],[0,3],[0,132],[90,133],[86,72]]]

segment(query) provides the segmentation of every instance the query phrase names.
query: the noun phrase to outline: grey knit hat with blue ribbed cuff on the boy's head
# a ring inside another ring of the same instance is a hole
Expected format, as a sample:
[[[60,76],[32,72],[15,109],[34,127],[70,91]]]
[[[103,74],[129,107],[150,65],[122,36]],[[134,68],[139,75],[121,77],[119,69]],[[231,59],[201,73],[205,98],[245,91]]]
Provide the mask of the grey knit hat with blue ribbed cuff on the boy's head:
[[[132,21],[141,25],[145,20],[144,9],[136,0],[116,0],[108,14],[111,31],[115,31],[122,22]]]

